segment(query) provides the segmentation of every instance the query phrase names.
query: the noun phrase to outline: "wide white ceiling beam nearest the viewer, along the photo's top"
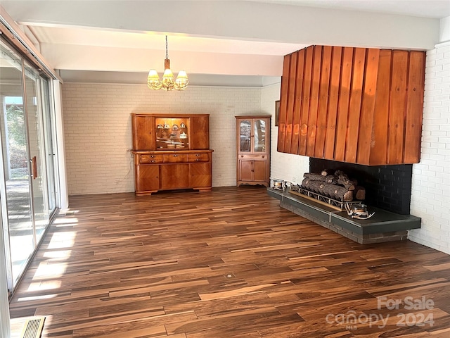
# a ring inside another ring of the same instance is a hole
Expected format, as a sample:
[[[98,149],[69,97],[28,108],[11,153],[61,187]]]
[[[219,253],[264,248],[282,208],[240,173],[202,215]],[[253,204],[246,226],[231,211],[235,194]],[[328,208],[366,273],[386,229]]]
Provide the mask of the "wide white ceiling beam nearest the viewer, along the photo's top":
[[[439,19],[254,1],[20,1],[26,6],[14,3],[17,1],[2,1],[13,18],[26,24],[399,49],[432,49],[439,42]]]

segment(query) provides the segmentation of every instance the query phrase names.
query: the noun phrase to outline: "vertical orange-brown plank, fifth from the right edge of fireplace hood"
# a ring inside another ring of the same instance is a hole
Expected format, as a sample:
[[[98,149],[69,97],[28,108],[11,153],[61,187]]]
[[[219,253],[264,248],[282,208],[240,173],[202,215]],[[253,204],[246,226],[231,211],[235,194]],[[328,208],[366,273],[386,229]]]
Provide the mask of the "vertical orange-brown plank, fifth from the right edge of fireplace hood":
[[[352,70],[352,89],[350,92],[349,118],[347,123],[347,137],[345,139],[345,161],[356,162],[358,146],[359,115],[361,115],[361,101],[363,94],[364,67],[366,65],[366,49],[355,48]]]

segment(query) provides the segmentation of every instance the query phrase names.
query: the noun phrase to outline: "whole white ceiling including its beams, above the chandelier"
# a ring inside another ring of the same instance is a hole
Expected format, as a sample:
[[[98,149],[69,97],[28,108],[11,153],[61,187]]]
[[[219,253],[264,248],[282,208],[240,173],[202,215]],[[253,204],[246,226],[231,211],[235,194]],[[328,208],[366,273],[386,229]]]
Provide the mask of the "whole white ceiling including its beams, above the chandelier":
[[[279,81],[283,56],[311,44],[430,49],[447,0],[2,0],[65,82],[146,82],[163,69],[197,85]]]

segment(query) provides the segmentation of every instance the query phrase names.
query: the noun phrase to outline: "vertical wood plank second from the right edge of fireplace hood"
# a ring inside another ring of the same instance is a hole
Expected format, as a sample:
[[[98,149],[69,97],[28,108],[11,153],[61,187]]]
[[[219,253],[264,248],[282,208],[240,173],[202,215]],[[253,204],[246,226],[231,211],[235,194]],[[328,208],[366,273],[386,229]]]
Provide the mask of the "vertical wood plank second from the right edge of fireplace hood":
[[[403,160],[407,76],[408,51],[393,51],[387,164],[401,163]]]

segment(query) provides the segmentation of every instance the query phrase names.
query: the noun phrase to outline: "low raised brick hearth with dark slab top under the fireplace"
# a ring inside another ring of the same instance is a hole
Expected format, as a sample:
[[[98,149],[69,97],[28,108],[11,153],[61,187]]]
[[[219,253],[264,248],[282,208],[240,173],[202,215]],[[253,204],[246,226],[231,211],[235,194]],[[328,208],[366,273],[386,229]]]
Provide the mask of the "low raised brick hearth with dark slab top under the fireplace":
[[[345,211],[316,203],[302,196],[289,194],[274,188],[267,188],[269,196],[280,200],[280,206],[297,215],[312,220],[359,244],[403,241],[407,230],[420,228],[420,218],[413,215],[399,215],[380,208],[368,206],[367,220],[351,218]]]

